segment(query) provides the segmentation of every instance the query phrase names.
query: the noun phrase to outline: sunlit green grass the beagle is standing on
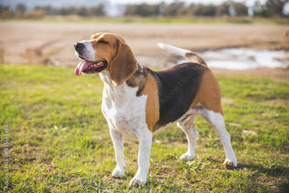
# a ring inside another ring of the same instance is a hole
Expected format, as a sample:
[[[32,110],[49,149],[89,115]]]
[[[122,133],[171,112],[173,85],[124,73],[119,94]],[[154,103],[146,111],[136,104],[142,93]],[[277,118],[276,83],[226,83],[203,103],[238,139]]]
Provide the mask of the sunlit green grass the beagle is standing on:
[[[147,184],[128,188],[137,170],[138,141],[125,137],[126,177],[111,178],[116,161],[98,75],[0,65],[0,189],[8,124],[9,192],[289,192],[288,84],[248,76],[217,79],[238,168],[221,167],[221,140],[197,116],[197,159],[179,160],[187,150],[186,136],[171,126],[153,137]],[[94,184],[75,183],[80,181]]]

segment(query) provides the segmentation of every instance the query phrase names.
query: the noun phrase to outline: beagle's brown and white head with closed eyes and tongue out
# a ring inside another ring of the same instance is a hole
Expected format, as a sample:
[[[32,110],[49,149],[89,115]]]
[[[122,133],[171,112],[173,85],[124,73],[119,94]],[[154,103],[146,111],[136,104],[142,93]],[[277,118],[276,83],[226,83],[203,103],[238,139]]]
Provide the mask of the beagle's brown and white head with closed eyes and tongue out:
[[[75,74],[94,74],[109,71],[114,86],[123,84],[138,69],[138,63],[125,40],[116,34],[97,33],[89,41],[74,44],[75,53],[84,61]]]

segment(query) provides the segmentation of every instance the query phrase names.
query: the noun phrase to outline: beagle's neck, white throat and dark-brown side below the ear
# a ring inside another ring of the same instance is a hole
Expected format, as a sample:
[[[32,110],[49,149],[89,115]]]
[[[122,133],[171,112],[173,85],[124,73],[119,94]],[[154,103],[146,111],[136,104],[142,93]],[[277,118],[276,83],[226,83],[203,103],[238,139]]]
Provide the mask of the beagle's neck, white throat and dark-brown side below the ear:
[[[138,63],[138,70],[123,85],[116,87],[112,85],[109,71],[103,71],[99,73],[99,76],[112,102],[123,104],[125,100],[141,95],[147,83],[148,71]]]

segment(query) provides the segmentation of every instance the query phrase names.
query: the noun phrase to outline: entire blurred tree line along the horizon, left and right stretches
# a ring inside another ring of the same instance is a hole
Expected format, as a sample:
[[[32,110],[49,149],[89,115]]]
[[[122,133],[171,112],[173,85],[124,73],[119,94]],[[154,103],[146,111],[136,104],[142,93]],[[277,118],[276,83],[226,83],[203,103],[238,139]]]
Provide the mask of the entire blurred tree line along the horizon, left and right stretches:
[[[165,1],[149,5],[142,3],[140,5],[127,5],[125,16],[247,16],[248,12],[253,16],[272,17],[284,16],[283,9],[289,0],[258,0],[253,7],[247,7],[244,3],[237,3],[231,0],[223,2],[221,5],[214,4],[190,4],[185,5],[183,1],[175,1],[167,4]],[[97,7],[69,7],[69,8],[53,8],[35,7],[31,12],[27,12],[25,5],[18,4],[16,9],[12,11],[9,7],[1,7],[1,18],[19,17],[19,18],[38,18],[44,15],[79,15],[79,16],[105,16],[107,11],[103,5]]]

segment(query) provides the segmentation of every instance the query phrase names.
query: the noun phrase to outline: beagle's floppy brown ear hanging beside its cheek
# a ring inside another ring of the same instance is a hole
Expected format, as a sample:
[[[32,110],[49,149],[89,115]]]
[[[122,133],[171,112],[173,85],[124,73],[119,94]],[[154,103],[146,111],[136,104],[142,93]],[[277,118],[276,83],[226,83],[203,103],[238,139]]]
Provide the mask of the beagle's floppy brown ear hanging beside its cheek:
[[[138,62],[131,48],[121,39],[117,39],[116,57],[110,63],[110,80],[116,87],[127,81],[138,69]]]

